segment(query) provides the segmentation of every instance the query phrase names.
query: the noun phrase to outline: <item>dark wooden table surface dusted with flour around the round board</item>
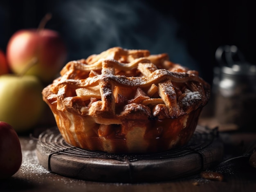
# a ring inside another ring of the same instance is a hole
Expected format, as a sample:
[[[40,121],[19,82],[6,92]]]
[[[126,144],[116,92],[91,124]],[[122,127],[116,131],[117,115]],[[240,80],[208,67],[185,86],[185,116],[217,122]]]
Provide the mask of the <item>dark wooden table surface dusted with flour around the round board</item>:
[[[224,143],[224,159],[242,154],[256,141],[256,132],[220,131]],[[207,171],[221,173],[223,181],[204,179],[200,173],[182,179],[155,183],[103,183],[83,181],[49,172],[38,163],[35,137],[20,136],[22,165],[11,178],[0,180],[0,192],[211,192],[256,191],[256,168],[244,157],[229,161]]]

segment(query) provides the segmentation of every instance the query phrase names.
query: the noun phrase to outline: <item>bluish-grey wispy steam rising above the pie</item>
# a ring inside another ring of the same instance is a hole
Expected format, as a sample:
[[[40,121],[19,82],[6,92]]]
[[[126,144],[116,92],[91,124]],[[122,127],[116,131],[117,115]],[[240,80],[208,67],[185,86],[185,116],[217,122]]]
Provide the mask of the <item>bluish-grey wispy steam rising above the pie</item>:
[[[174,18],[164,18],[145,2],[61,1],[57,11],[65,22],[63,35],[68,40],[70,60],[121,46],[148,49],[152,54],[168,53],[171,61],[198,70],[186,45],[177,38],[178,23]]]

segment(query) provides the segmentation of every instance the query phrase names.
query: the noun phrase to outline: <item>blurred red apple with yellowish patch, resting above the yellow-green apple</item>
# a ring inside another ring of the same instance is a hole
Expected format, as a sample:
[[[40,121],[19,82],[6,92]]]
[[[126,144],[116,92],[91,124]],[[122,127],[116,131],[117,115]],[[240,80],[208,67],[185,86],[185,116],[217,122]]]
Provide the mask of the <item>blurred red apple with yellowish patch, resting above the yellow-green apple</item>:
[[[36,75],[52,81],[64,66],[67,48],[58,32],[50,29],[24,29],[12,35],[7,44],[7,61],[16,74]]]

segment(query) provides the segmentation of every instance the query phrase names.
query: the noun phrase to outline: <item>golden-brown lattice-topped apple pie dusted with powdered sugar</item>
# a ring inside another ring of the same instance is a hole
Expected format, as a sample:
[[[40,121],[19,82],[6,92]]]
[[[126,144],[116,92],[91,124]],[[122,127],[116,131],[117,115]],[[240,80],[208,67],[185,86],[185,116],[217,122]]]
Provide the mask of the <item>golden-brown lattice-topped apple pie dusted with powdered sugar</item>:
[[[210,86],[165,53],[114,47],[68,62],[42,94],[73,146],[160,152],[189,141]]]

